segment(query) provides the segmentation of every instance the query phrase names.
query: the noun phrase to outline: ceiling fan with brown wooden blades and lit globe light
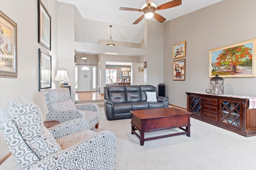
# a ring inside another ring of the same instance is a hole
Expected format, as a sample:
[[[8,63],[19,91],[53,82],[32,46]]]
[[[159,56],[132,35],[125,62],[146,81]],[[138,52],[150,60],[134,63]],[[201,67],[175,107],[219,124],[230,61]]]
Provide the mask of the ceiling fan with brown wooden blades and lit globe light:
[[[119,10],[144,12],[144,15],[140,16],[140,18],[138,18],[132,24],[139,23],[144,17],[148,19],[154,17],[158,22],[162,23],[166,19],[163,16],[160,16],[159,14],[156,14],[154,12],[156,10],[164,10],[175,6],[179,6],[182,3],[182,0],[172,0],[170,2],[166,2],[165,4],[156,6],[156,4],[154,4],[152,1],[153,0],[146,0],[146,4],[142,6],[142,9],[120,7]]]

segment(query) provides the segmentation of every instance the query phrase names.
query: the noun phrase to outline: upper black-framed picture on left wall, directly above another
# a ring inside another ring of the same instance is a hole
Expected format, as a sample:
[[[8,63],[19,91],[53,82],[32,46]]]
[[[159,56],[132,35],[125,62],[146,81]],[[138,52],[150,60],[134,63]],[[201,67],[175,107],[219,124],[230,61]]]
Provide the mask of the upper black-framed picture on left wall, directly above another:
[[[38,0],[38,43],[51,50],[51,17],[40,0]]]

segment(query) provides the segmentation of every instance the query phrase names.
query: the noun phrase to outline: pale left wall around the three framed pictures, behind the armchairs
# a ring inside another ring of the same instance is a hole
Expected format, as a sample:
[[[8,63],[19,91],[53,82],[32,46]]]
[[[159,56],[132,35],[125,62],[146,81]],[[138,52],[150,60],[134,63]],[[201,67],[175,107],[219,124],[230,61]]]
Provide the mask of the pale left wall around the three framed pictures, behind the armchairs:
[[[54,73],[58,61],[56,1],[42,0],[42,2],[52,17],[52,51],[48,53],[52,55],[52,72]],[[1,0],[0,10],[17,23],[18,36],[18,78],[0,78],[0,107],[6,107],[12,98],[25,97],[42,109],[43,119],[45,119],[48,110],[44,102],[44,94],[47,90],[38,91],[38,49],[45,52],[48,50],[38,43],[37,1]],[[56,88],[54,81],[52,81],[52,88]],[[2,133],[0,150],[0,159],[10,152]]]

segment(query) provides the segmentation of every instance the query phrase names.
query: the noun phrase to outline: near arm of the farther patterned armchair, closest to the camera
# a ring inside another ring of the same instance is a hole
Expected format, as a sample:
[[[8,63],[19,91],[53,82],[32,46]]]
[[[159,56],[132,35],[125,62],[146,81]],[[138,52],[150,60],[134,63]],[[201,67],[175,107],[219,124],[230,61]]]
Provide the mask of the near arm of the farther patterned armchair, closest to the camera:
[[[65,110],[65,111],[51,111],[46,114],[46,120],[57,120],[60,123],[73,119],[84,119],[86,121],[85,113],[81,110]]]

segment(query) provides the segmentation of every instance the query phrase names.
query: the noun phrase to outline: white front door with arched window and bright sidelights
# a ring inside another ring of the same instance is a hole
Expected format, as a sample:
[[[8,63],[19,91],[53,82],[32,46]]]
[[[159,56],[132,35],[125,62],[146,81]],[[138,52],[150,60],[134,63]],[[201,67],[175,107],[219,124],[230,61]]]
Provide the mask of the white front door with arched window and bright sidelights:
[[[97,91],[96,70],[96,65],[76,65],[76,92]]]

